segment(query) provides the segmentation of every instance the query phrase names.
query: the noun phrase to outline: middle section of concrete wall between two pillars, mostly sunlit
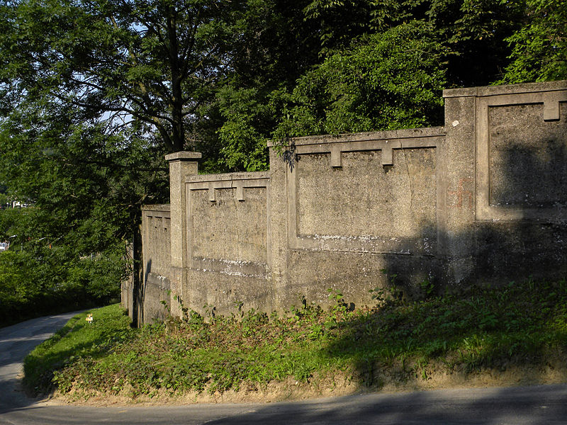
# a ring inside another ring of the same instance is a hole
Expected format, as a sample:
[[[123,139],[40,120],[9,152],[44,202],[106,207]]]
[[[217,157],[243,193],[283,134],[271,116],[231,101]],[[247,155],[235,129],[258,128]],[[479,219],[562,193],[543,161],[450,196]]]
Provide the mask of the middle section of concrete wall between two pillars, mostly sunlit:
[[[355,305],[369,304],[369,290],[394,274],[407,288],[438,274],[437,147],[443,140],[442,128],[295,140],[293,171],[271,175],[286,186],[273,208],[288,215],[279,307],[301,295],[324,305],[328,288]]]

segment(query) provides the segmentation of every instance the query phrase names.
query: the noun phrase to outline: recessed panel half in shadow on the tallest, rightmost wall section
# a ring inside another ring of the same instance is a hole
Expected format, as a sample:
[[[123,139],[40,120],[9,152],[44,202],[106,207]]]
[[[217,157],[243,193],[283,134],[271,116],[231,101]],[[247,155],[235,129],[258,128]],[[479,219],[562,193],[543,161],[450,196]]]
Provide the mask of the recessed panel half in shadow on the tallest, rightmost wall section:
[[[552,121],[543,103],[488,108],[490,206],[567,204],[567,103],[559,105]]]

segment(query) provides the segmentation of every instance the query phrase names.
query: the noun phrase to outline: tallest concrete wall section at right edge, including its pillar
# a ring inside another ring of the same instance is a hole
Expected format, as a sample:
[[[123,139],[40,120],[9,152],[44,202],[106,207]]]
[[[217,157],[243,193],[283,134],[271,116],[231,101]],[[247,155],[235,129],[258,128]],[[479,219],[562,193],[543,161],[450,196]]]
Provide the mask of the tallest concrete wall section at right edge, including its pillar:
[[[567,81],[447,90],[450,284],[567,271]]]

